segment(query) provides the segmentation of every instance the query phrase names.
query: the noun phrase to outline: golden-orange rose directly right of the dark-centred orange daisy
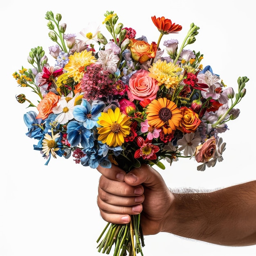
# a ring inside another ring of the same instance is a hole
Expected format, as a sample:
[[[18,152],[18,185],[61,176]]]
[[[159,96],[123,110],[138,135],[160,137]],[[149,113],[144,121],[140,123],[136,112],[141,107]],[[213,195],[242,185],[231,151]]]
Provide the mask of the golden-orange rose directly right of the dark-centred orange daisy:
[[[177,129],[186,133],[195,132],[196,128],[198,128],[201,123],[198,114],[187,107],[181,107],[180,110],[183,117],[180,120],[180,126],[178,126]]]

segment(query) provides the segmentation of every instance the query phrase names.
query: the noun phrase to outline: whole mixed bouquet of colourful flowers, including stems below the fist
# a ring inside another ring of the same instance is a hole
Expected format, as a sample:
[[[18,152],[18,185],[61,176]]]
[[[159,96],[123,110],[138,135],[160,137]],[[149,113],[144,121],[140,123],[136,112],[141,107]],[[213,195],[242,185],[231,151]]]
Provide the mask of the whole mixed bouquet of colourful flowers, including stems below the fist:
[[[180,157],[195,159],[199,171],[221,162],[225,143],[219,133],[238,117],[235,106],[249,79],[239,77],[235,93],[212,67],[203,67],[203,54],[186,49],[198,34],[193,23],[180,46],[169,38],[160,49],[162,37],[181,31],[181,25],[151,17],[160,34],[157,43],[148,43],[113,11],[104,16],[109,40],[99,27],[95,33],[86,27],[66,34],[61,14],[48,11],[54,63],[35,47],[27,58],[32,67],[13,73],[18,85],[38,96],[34,103],[25,94],[16,99],[36,109],[24,115],[26,135],[38,141],[34,149],[45,164],[64,157],[91,168],[116,164],[129,172],[141,164],[164,169],[162,160],[172,164]],[[106,254],[115,245],[114,256],[143,255],[140,215],[129,225],[108,223],[97,242]]]

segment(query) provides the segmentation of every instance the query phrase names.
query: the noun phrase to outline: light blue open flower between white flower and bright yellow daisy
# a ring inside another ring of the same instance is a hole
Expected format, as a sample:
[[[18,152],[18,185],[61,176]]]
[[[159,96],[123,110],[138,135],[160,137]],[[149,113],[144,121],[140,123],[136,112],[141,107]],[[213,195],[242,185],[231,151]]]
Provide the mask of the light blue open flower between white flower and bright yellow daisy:
[[[73,110],[73,116],[76,121],[83,122],[83,126],[87,129],[92,129],[97,124],[98,117],[102,110],[106,107],[103,101],[92,101],[92,105],[86,100],[82,99],[81,105],[76,105]]]

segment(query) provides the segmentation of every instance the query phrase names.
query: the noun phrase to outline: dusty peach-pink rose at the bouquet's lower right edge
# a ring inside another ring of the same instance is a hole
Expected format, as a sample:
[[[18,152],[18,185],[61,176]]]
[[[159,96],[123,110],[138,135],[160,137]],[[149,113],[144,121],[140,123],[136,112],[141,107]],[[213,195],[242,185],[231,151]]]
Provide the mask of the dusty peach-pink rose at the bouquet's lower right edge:
[[[203,144],[195,148],[195,160],[198,163],[206,163],[213,157],[216,151],[216,140],[214,137],[207,139]]]

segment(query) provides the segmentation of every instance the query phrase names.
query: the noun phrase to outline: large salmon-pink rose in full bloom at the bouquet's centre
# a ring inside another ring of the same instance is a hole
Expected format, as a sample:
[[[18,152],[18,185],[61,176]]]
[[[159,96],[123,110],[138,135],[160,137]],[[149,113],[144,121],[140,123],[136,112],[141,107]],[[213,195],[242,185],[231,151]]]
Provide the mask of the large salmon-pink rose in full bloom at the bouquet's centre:
[[[149,72],[146,70],[138,70],[129,80],[129,90],[127,90],[130,101],[135,99],[143,101],[149,99],[152,101],[157,97],[159,86],[157,81],[148,76]]]

